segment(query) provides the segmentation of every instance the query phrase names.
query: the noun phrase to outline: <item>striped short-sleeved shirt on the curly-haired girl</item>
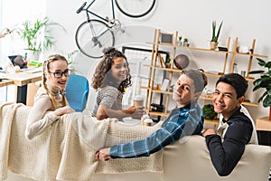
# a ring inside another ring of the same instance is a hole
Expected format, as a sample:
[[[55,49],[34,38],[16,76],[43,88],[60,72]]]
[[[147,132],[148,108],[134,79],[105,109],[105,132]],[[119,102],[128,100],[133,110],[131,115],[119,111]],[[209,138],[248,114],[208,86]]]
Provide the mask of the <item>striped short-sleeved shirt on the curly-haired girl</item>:
[[[91,116],[96,117],[100,104],[106,105],[111,110],[122,110],[123,93],[117,88],[106,86],[98,88],[96,103],[91,112]]]

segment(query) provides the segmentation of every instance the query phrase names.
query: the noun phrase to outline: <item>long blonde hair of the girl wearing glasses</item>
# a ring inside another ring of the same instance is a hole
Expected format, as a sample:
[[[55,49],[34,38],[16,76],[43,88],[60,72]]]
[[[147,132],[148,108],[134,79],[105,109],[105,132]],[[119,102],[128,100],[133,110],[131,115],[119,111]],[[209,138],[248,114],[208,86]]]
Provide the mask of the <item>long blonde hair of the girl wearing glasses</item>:
[[[46,81],[47,81],[47,78],[45,76],[45,72],[49,72],[49,65],[51,62],[55,62],[55,61],[65,61],[67,62],[67,65],[68,65],[68,61],[67,59],[60,55],[60,54],[53,54],[51,56],[48,57],[48,59],[46,61],[43,62],[43,65],[42,65],[42,85],[44,87],[44,89],[46,90],[46,93],[49,95],[50,99],[51,99],[51,102],[52,102],[52,105],[54,106],[55,109],[58,109],[60,108],[59,106],[59,103],[58,101],[55,99],[55,97],[51,94],[51,91],[48,89],[47,87],[47,84],[46,84]],[[67,100],[66,100],[66,97],[65,97],[65,90],[61,90],[61,94],[62,94],[62,105],[63,107],[67,105]]]

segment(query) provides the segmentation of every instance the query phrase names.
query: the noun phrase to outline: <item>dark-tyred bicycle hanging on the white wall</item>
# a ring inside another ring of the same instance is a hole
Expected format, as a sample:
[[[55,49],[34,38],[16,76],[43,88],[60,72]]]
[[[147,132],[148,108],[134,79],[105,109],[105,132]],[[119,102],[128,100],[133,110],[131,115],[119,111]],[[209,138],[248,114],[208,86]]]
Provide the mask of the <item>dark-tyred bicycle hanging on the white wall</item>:
[[[115,5],[111,0],[112,19],[102,17],[101,15],[89,10],[90,6],[96,0],[85,8],[87,2],[79,7],[77,14],[82,11],[86,12],[87,20],[79,25],[75,34],[75,41],[79,51],[91,58],[102,57],[102,50],[108,46],[115,45],[114,33],[124,30],[121,28],[121,23],[115,18]],[[138,18],[149,14],[154,8],[156,0],[115,0],[115,4],[119,11],[129,17]],[[132,11],[132,9],[133,11]],[[90,14],[98,19],[90,19]]]

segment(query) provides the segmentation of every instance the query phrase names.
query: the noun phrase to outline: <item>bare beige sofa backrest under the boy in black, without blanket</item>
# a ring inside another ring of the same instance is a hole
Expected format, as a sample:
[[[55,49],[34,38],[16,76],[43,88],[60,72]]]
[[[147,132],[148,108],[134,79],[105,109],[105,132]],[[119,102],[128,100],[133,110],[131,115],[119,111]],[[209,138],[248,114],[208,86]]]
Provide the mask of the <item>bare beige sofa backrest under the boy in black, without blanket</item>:
[[[181,138],[164,148],[164,180],[266,181],[271,166],[271,148],[246,146],[245,153],[229,176],[219,176],[210,161],[205,138]],[[182,179],[183,177],[183,179]]]

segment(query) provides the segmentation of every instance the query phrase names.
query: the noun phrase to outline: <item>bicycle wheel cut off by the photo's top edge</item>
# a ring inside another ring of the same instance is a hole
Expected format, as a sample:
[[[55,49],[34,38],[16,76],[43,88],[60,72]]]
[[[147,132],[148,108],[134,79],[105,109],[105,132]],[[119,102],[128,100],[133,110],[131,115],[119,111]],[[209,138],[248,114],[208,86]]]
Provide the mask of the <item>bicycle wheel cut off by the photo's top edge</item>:
[[[115,0],[121,13],[129,17],[142,17],[154,8],[155,0]]]

